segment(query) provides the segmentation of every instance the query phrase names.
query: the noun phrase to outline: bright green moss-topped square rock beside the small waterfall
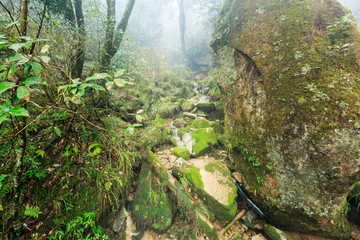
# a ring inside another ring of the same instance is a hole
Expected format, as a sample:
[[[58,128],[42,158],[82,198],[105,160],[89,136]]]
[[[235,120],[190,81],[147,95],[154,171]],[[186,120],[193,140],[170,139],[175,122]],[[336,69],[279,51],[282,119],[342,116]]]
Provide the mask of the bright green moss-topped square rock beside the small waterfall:
[[[198,157],[209,152],[218,143],[216,133],[213,128],[201,128],[191,133],[194,139],[192,146],[192,156]]]

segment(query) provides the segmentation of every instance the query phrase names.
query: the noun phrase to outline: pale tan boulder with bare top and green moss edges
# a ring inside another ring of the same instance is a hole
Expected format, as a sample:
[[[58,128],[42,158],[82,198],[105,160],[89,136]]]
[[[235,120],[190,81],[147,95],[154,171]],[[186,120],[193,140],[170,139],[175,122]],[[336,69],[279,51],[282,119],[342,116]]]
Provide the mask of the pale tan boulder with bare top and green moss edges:
[[[206,202],[220,221],[230,221],[236,214],[237,189],[230,171],[215,159],[192,159],[180,172]]]

